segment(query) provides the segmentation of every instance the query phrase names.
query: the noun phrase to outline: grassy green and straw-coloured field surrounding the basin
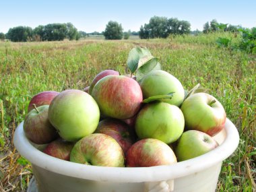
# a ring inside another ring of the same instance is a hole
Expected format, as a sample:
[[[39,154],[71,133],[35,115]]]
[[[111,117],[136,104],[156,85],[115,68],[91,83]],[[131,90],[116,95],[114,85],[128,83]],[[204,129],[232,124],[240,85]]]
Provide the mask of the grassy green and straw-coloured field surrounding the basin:
[[[29,162],[13,146],[30,98],[45,90],[82,90],[104,69],[127,73],[135,46],[146,46],[164,70],[190,90],[200,83],[226,109],[240,133],[238,149],[224,161],[217,191],[256,189],[256,58],[216,46],[208,34],[153,40],[0,42],[0,191],[26,191]],[[237,37],[239,38],[239,37]]]

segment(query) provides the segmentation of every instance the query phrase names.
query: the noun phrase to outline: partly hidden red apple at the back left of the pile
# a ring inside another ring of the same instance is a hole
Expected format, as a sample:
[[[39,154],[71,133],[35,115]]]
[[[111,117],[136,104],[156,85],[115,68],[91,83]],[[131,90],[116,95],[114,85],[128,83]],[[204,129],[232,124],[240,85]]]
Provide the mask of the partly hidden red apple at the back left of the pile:
[[[44,91],[34,95],[28,104],[28,112],[34,109],[33,104],[36,104],[36,106],[49,105],[58,94],[59,92],[55,91]]]

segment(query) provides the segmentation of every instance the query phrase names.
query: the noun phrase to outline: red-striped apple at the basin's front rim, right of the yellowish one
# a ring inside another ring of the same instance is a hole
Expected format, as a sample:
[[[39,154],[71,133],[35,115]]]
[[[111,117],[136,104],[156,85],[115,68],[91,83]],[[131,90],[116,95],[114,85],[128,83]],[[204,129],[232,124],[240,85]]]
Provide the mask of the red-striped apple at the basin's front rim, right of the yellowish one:
[[[174,152],[166,143],[152,138],[134,143],[125,159],[128,167],[170,165],[177,162]]]

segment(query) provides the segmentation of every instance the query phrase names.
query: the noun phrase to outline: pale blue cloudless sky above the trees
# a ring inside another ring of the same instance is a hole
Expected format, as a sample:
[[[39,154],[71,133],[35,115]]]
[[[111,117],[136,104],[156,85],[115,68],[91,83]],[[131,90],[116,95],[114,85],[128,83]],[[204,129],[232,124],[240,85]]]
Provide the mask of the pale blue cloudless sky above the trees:
[[[191,30],[202,30],[205,22],[256,26],[255,0],[6,0],[0,3],[0,32],[15,26],[71,22],[77,30],[102,32],[106,24],[116,21],[125,31],[139,31],[154,15],[187,20]]]

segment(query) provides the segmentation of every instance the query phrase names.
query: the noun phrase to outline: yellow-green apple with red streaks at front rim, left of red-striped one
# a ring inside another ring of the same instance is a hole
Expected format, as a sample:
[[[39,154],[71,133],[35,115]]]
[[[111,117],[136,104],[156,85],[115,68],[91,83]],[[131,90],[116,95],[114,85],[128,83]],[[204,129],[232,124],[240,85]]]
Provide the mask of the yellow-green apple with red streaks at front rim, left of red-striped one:
[[[70,161],[95,166],[125,166],[123,150],[109,135],[93,133],[75,143]]]

